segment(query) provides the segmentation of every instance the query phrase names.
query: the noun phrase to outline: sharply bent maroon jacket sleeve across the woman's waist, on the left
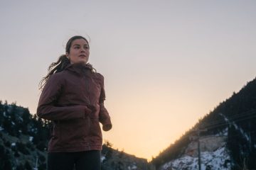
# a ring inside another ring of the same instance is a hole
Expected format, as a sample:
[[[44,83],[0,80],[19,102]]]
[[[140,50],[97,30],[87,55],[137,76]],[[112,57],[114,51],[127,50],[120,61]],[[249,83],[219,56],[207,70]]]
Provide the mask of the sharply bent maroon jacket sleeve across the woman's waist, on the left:
[[[46,120],[70,120],[85,118],[90,109],[87,106],[56,106],[63,88],[63,77],[57,74],[50,76],[38,101],[36,114]]]

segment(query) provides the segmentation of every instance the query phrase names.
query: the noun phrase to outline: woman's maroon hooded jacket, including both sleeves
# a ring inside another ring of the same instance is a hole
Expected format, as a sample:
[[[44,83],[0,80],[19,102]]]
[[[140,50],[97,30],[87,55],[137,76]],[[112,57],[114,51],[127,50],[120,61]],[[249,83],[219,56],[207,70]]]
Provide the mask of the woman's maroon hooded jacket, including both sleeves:
[[[105,131],[112,128],[104,100],[104,77],[85,64],[69,64],[51,75],[36,113],[53,123],[48,152],[102,149],[100,123]]]

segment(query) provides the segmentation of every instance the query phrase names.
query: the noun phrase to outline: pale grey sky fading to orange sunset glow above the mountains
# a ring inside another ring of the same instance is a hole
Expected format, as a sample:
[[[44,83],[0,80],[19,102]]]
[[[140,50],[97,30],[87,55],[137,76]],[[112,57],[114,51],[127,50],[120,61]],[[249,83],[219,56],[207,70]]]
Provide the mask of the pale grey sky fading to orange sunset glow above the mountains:
[[[0,100],[34,114],[47,68],[90,39],[113,128],[150,160],[256,75],[256,1],[0,1]]]

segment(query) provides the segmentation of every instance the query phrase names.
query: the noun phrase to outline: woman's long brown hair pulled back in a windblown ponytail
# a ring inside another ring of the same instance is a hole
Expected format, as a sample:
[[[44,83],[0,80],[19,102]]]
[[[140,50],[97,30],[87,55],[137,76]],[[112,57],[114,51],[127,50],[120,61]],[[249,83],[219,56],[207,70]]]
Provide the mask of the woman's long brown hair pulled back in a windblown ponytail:
[[[68,53],[68,54],[70,53],[71,44],[74,40],[77,40],[77,39],[84,39],[89,45],[89,42],[86,40],[86,38],[84,38],[80,35],[75,35],[68,40],[68,42],[65,46],[66,53]],[[41,89],[41,90],[43,89],[43,86],[46,84],[46,82],[48,81],[48,79],[50,78],[51,75],[53,75],[57,72],[62,72],[63,69],[65,69],[65,67],[68,66],[68,64],[70,64],[70,60],[68,60],[68,57],[66,55],[60,55],[60,57],[58,57],[57,62],[52,62],[50,64],[50,66],[48,67],[48,74],[46,75],[46,77],[43,77],[43,79],[39,82],[39,89]],[[88,64],[88,65],[90,65],[92,67],[91,64]]]

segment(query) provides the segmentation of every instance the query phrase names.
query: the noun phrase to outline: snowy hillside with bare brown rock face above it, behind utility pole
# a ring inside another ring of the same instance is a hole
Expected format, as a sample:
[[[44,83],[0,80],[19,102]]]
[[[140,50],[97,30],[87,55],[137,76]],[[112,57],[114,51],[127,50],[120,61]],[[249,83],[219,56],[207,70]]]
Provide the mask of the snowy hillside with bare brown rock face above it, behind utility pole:
[[[216,135],[200,137],[201,170],[230,170],[230,154],[226,148],[228,130]],[[178,159],[171,160],[160,170],[193,170],[198,169],[198,139],[186,147],[184,154]]]

